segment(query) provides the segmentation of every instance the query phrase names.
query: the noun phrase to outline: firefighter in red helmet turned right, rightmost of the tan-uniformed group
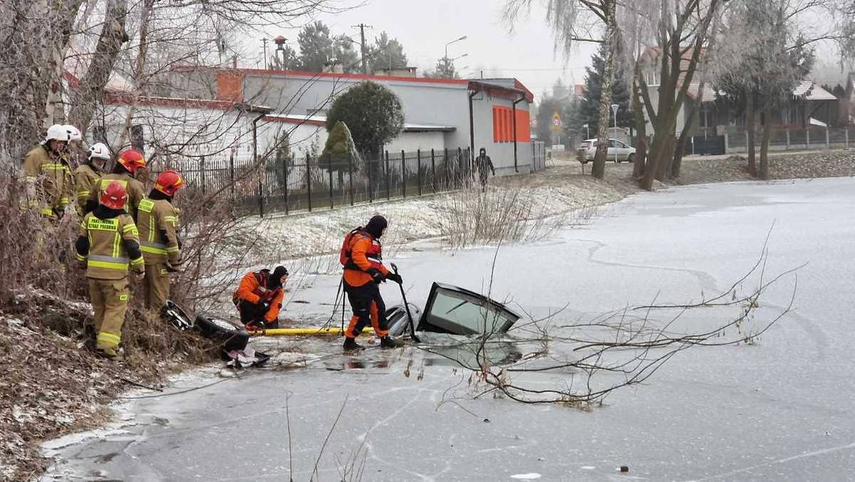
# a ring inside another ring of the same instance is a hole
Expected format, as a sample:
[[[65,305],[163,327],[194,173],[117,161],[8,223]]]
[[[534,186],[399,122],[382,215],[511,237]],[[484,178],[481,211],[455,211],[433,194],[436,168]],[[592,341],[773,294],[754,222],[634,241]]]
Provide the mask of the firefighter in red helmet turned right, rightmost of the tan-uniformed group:
[[[137,227],[145,259],[145,307],[160,311],[169,297],[169,273],[178,271],[181,241],[178,208],[172,205],[184,180],[174,170],[164,170],[149,196],[139,201]]]

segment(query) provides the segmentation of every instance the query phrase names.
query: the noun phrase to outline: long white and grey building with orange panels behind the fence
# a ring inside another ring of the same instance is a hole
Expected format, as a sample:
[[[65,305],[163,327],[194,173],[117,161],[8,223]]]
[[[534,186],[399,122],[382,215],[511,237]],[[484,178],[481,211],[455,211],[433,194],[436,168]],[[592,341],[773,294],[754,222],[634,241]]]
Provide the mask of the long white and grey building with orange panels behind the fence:
[[[121,140],[168,158],[251,158],[287,136],[292,155],[320,152],[333,98],[363,80],[389,87],[404,107],[404,131],[385,149],[429,152],[484,147],[497,174],[534,170],[528,109],[534,96],[515,79],[448,80],[251,68],[175,68],[160,97],[109,92],[89,136]],[[130,120],[128,119],[128,114]],[[156,134],[156,135],[155,135]]]

